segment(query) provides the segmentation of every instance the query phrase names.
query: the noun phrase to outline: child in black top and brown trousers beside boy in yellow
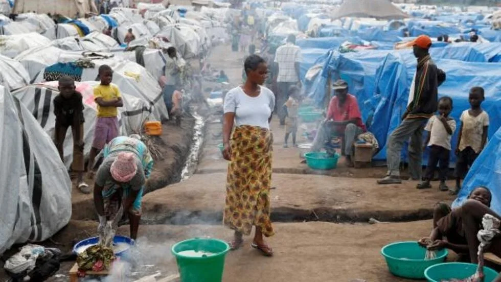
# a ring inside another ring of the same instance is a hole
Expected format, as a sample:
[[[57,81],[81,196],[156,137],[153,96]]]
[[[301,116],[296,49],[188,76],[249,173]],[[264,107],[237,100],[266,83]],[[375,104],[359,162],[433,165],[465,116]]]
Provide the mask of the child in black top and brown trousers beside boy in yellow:
[[[64,161],[63,145],[66,131],[69,127],[73,133],[73,163],[72,170],[77,173],[78,189],[89,194],[89,186],[83,180],[85,170],[83,156],[83,102],[82,94],[75,90],[75,81],[69,76],[59,78],[59,95],[54,98],[54,114],[56,125],[54,129],[54,144],[61,160]]]

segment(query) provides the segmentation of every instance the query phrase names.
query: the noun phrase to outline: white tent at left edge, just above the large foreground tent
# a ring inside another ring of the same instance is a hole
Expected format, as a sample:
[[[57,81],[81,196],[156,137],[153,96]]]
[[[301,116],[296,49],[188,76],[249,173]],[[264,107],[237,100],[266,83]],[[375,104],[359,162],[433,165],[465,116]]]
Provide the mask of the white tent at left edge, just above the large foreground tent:
[[[29,83],[28,72],[18,61],[0,55],[0,85],[13,90]]]

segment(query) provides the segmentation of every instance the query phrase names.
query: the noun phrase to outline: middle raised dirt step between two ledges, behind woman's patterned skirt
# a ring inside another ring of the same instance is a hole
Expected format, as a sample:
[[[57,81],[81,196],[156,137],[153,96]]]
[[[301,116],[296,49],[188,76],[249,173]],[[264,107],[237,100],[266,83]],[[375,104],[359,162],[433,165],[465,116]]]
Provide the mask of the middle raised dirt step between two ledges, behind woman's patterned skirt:
[[[208,221],[221,218],[225,173],[195,174],[143,198],[143,219],[154,223]],[[418,190],[416,181],[379,186],[373,178],[279,174],[272,176],[272,217],[280,221],[382,221],[431,218],[438,201],[453,197],[438,189]]]

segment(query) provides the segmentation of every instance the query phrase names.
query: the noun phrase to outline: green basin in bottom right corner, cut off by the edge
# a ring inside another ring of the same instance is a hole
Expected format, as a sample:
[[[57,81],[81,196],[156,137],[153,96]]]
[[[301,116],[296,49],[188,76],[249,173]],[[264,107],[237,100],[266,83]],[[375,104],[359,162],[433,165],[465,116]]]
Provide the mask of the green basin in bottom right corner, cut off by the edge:
[[[468,263],[443,263],[428,267],[424,271],[424,276],[428,282],[440,282],[445,279],[464,279],[473,275],[476,271],[475,264]],[[497,272],[484,267],[484,282],[491,282],[497,276]]]

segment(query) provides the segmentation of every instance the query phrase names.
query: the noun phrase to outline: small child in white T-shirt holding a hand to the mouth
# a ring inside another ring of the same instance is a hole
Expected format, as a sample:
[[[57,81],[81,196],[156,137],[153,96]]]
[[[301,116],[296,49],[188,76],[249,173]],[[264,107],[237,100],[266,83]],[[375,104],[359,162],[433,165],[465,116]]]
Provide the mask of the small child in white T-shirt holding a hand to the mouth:
[[[456,130],[456,121],[449,116],[452,110],[452,99],[442,97],[438,101],[439,114],[431,116],[424,130],[428,131],[428,137],[424,147],[429,147],[428,166],[424,181],[418,184],[418,189],[431,188],[429,183],[433,179],[437,164],[439,165],[440,191],[448,191],[445,184],[447,171],[449,170],[450,139]],[[424,151],[424,150],[423,150]]]

